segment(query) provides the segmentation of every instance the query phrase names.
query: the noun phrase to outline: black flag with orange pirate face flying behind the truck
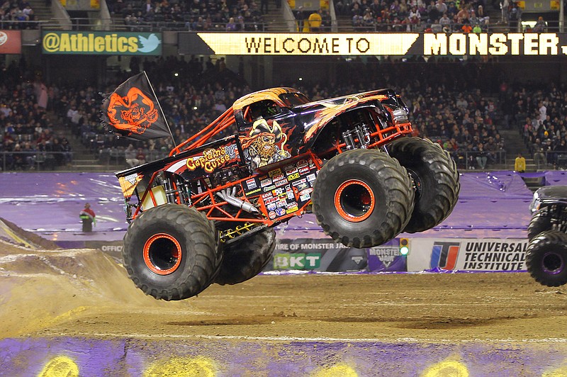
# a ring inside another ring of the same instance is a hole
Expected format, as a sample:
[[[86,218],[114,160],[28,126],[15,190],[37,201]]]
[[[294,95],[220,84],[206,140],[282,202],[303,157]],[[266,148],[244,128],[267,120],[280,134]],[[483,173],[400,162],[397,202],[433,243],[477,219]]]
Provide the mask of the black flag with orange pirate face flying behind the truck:
[[[111,131],[136,140],[172,135],[145,72],[130,77],[105,96],[101,118]]]

